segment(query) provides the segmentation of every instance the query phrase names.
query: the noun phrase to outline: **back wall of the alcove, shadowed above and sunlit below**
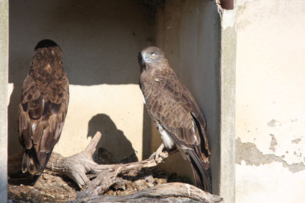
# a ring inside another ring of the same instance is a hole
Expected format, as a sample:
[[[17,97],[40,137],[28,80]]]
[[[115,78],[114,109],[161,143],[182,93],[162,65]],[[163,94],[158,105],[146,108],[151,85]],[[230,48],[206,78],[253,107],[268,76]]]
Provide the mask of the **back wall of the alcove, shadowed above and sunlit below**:
[[[21,150],[17,105],[34,47],[41,39],[53,39],[62,48],[71,94],[55,151],[64,156],[80,152],[101,131],[98,147],[116,162],[134,151],[138,160],[149,155],[137,56],[153,43],[152,28],[132,0],[10,1],[8,153]]]

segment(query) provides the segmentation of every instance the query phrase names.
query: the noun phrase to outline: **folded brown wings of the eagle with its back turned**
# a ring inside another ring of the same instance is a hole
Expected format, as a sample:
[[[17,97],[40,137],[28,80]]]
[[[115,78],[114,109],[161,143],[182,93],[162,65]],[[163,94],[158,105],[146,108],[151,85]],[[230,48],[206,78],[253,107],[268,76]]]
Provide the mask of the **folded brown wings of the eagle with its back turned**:
[[[39,76],[38,76],[39,77]],[[44,81],[45,78],[39,78]],[[58,142],[68,109],[66,75],[50,85],[26,77],[18,109],[19,142],[24,146],[22,171],[39,175]]]

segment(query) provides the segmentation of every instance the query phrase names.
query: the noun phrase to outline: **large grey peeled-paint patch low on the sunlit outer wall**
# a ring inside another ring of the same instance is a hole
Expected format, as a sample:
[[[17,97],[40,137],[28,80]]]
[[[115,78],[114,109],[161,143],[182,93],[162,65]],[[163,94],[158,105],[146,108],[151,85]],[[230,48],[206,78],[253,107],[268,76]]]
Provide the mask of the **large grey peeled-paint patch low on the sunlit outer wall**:
[[[288,168],[292,173],[297,173],[299,171],[305,170],[305,165],[303,162],[295,163],[295,164],[287,164],[284,161],[284,155],[279,157],[273,154],[264,155],[254,143],[241,142],[240,138],[235,139],[236,146],[236,157],[235,163],[241,165],[241,161],[245,161],[246,165],[250,166],[259,166],[261,164],[271,164],[272,162],[281,162],[284,168]],[[305,161],[305,158],[304,158]]]

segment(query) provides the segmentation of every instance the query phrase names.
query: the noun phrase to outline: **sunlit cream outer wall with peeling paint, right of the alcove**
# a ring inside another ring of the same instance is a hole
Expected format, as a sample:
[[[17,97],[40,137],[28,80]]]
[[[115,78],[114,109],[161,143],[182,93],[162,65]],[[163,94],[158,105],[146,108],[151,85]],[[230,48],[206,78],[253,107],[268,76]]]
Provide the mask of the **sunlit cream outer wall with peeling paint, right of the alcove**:
[[[237,202],[304,202],[305,1],[237,7]]]

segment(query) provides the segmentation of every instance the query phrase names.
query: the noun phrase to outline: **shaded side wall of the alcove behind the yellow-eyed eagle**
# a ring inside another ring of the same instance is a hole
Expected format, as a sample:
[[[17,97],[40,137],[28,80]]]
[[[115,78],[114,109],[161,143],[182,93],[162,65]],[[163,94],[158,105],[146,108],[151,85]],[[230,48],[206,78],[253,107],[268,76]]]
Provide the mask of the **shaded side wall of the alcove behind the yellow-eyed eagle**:
[[[171,68],[190,90],[205,119],[211,148],[213,193],[220,193],[220,17],[212,1],[166,1],[156,19],[156,45],[165,51]],[[152,148],[162,142],[151,124]],[[190,162],[180,153],[169,157],[163,167],[193,181]]]

